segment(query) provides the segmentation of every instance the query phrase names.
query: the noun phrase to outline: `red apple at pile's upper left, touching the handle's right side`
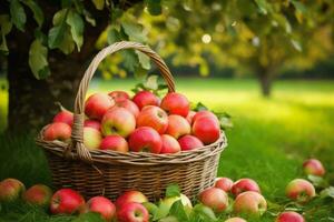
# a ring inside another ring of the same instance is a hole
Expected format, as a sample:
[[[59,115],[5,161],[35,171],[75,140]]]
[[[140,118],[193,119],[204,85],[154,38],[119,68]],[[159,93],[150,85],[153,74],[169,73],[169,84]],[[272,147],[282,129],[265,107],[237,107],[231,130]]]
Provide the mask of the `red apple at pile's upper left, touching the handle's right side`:
[[[104,93],[90,95],[85,103],[85,113],[90,119],[101,120],[104,114],[115,104],[114,100]]]

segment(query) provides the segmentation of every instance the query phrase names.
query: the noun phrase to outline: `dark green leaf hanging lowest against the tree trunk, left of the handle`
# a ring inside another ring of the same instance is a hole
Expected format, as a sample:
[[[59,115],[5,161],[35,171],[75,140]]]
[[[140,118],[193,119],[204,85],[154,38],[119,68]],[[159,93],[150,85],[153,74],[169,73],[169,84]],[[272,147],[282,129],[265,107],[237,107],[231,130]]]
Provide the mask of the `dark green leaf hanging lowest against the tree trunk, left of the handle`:
[[[29,67],[36,79],[45,79],[50,75],[48,63],[48,48],[36,39],[29,49]]]

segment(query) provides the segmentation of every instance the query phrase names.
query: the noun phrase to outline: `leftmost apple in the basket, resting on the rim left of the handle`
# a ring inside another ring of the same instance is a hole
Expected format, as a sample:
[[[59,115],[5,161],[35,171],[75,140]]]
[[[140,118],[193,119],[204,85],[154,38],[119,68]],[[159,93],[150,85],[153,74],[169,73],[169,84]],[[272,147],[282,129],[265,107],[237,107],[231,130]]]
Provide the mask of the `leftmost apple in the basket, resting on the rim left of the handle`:
[[[47,141],[60,140],[68,141],[71,138],[71,127],[63,122],[48,124],[43,131],[43,139]]]

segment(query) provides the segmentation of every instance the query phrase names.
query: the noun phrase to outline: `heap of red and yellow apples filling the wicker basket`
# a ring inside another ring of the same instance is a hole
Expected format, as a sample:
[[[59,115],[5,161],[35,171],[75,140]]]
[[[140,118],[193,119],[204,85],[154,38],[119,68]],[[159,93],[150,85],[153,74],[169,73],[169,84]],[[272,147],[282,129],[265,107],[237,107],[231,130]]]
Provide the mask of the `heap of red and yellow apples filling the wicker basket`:
[[[220,135],[210,111],[191,111],[188,99],[169,92],[163,99],[150,91],[132,98],[125,91],[91,94],[85,103],[84,143],[89,150],[177,153],[214,143]],[[46,127],[43,139],[67,142],[73,113],[62,110]]]

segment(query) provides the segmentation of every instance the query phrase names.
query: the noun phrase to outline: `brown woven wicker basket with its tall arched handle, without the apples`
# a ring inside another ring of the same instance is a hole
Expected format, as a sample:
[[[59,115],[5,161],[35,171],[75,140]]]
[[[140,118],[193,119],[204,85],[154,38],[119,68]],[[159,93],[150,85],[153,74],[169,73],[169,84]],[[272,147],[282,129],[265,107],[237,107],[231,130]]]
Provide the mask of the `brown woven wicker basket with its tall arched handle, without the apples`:
[[[169,69],[148,47],[122,41],[101,50],[91,61],[79,85],[71,143],[45,141],[43,130],[37,138],[37,143],[46,151],[53,185],[56,189],[73,188],[85,198],[105,195],[112,200],[126,190],[136,189],[155,201],[164,195],[168,184],[177,183],[183,193],[194,199],[214,183],[220,152],[227,145],[224,133],[213,144],[176,154],[88,151],[84,145],[84,104],[88,84],[98,64],[107,56],[122,49],[135,49],[147,54],[159,68],[169,92],[175,91]]]

